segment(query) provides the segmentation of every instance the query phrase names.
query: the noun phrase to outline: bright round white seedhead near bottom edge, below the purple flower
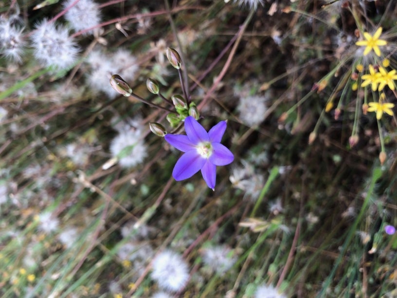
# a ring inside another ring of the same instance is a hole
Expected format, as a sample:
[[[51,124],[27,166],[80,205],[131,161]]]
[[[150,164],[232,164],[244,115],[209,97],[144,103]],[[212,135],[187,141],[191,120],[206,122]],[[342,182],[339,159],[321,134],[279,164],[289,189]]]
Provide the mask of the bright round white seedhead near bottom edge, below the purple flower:
[[[164,290],[178,292],[189,279],[188,266],[182,258],[170,251],[161,252],[152,262],[151,278]]]

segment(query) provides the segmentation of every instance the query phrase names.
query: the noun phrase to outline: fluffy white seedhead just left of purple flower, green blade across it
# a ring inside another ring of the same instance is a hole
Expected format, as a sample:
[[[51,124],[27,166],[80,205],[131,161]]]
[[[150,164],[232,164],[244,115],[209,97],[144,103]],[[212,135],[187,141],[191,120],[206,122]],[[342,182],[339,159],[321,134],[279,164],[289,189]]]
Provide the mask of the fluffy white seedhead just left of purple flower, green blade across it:
[[[142,163],[147,155],[147,146],[141,131],[139,128],[122,130],[110,144],[112,156],[119,158],[119,164],[123,168]]]

